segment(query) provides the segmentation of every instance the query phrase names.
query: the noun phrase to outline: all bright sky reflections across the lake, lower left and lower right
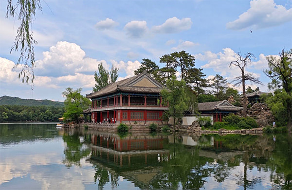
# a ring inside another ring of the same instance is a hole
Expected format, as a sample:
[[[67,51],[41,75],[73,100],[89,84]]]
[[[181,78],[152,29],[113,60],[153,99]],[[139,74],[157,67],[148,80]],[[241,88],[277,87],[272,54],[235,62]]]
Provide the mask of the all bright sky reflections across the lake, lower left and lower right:
[[[65,143],[61,136],[46,139],[23,141],[18,144],[0,145],[0,190],[91,190],[98,189],[98,181],[94,183],[94,167],[86,158],[80,160],[80,167],[67,168],[62,161]],[[204,167],[218,165],[216,160]],[[228,170],[229,169],[229,170]],[[243,186],[237,185],[237,181],[244,176],[244,164],[233,168],[226,168],[229,176],[223,182],[218,183],[214,174],[204,178],[206,183],[201,190],[242,190]],[[247,179],[259,178],[254,189],[273,189],[274,184],[270,182],[270,171],[258,171],[256,167],[252,170],[247,168]],[[134,183],[119,177],[118,187],[112,188],[110,182],[104,189],[139,190]],[[182,189],[182,185],[178,189]]]

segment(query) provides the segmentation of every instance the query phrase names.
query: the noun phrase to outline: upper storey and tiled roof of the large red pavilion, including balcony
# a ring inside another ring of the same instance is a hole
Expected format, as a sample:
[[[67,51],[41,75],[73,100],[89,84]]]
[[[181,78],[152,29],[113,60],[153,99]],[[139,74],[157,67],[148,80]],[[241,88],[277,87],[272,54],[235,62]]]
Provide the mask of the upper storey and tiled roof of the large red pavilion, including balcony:
[[[91,99],[91,112],[116,109],[167,110],[162,104],[161,90],[164,88],[149,74],[112,83],[97,92],[87,94]]]

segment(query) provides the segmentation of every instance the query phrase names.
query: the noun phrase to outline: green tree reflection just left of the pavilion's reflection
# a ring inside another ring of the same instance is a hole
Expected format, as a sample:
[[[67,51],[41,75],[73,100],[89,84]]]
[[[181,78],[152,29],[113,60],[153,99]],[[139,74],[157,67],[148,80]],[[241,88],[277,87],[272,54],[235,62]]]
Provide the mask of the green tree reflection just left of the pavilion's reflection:
[[[80,142],[78,133],[73,135],[64,133],[63,140],[66,142],[66,147],[64,149],[65,159],[62,163],[67,167],[72,165],[80,166],[80,159],[90,155],[90,148]]]

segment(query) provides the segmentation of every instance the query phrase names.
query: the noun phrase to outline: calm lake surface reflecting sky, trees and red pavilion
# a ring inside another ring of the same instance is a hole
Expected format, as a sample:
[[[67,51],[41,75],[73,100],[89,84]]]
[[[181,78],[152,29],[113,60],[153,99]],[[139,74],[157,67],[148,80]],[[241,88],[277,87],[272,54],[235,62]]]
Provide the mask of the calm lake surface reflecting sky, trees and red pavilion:
[[[292,189],[292,134],[116,134],[0,124],[0,190]]]

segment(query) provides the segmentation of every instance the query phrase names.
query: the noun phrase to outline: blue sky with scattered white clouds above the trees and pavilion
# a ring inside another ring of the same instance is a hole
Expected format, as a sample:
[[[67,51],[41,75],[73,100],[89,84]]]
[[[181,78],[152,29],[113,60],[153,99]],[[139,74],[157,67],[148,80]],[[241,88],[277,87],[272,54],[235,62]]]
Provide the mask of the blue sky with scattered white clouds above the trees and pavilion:
[[[230,62],[237,52],[251,52],[255,59],[246,71],[267,92],[266,56],[292,48],[292,0],[40,1],[32,24],[38,42],[33,89],[13,69],[19,52],[10,49],[19,21],[5,17],[7,1],[0,1],[0,96],[64,101],[67,87],[92,92],[99,63],[119,68],[122,80],[134,76],[142,59],[164,67],[160,57],[180,51],[195,56],[206,78],[219,74],[231,84],[240,71]]]

